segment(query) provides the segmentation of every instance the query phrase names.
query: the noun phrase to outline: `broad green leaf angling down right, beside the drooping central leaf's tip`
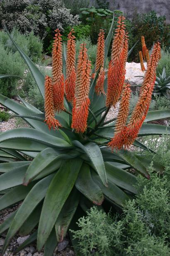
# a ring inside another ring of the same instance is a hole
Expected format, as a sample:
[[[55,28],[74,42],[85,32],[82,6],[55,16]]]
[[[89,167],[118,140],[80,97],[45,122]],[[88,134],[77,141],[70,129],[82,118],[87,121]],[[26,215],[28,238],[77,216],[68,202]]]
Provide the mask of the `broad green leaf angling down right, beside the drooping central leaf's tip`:
[[[118,167],[114,166],[114,163],[111,164],[105,162],[107,179],[114,183],[115,185],[130,191],[136,194],[136,189],[134,185],[136,184],[136,176],[129,173],[128,171],[124,171]]]

